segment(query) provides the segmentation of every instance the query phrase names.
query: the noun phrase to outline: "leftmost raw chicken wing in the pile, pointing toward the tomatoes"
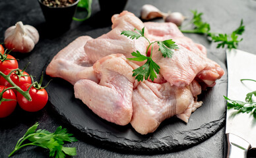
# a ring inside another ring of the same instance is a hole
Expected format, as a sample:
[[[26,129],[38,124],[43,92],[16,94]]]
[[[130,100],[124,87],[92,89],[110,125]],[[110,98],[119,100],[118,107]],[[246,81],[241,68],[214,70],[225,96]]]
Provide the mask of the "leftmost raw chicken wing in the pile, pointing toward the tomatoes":
[[[98,82],[92,65],[84,52],[84,44],[92,39],[89,36],[80,36],[67,47],[59,51],[46,68],[46,74],[51,77],[59,77],[75,84],[82,78]]]

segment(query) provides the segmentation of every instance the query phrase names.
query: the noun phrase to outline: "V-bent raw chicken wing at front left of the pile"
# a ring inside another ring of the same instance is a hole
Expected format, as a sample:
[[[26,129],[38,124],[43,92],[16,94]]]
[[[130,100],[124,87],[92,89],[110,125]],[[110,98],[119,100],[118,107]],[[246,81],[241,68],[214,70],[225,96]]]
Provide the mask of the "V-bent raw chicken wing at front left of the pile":
[[[96,115],[119,125],[129,124],[133,106],[131,103],[133,68],[124,55],[108,55],[94,64],[100,82],[79,80],[75,97],[84,102]]]

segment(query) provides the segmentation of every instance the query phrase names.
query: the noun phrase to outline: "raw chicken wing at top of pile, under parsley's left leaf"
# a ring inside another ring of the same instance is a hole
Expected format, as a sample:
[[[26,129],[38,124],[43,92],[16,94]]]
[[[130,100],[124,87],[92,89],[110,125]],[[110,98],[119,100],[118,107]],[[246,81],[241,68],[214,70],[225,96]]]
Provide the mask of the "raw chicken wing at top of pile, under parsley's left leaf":
[[[133,57],[133,51],[139,51],[141,54],[146,53],[148,41],[144,38],[130,39],[121,35],[121,31],[131,30],[135,28],[141,30],[144,27],[143,22],[133,13],[123,11],[120,14],[112,16],[112,30],[96,39],[87,41],[84,50],[88,55],[91,63],[95,63],[98,59],[110,54],[122,53],[125,57]],[[144,30],[144,36],[147,36],[147,30]],[[136,63],[136,62],[135,62]],[[137,62],[142,64],[143,62]]]

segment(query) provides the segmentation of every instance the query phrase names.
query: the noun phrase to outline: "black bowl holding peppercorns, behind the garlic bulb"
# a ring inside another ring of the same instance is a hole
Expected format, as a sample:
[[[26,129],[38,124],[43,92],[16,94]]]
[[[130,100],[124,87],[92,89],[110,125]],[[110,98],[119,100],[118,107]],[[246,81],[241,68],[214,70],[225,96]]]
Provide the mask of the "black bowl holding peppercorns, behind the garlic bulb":
[[[46,24],[51,31],[69,30],[79,0],[67,7],[48,7],[42,3],[42,0],[38,0],[38,2],[44,18],[46,18]]]

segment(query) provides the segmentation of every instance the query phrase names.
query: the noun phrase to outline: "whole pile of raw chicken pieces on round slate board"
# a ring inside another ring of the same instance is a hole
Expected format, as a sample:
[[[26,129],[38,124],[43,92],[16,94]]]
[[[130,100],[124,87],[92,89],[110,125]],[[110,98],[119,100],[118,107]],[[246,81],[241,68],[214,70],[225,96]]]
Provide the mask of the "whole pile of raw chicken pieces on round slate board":
[[[140,134],[154,132],[174,115],[188,122],[202,105],[197,101],[202,87],[214,86],[224,70],[207,58],[203,45],[183,36],[173,23],[143,23],[127,11],[113,15],[112,22],[107,34],[96,39],[80,36],[59,51],[46,73],[73,84],[75,97],[99,117],[119,125],[131,123]],[[150,41],[173,39],[179,47],[172,58],[162,57],[157,44],[147,52],[160,66],[154,82],[137,82],[133,70],[144,63],[127,60],[133,51],[146,55],[148,41],[121,35],[123,30],[143,27]]]

